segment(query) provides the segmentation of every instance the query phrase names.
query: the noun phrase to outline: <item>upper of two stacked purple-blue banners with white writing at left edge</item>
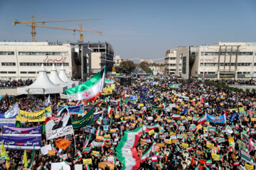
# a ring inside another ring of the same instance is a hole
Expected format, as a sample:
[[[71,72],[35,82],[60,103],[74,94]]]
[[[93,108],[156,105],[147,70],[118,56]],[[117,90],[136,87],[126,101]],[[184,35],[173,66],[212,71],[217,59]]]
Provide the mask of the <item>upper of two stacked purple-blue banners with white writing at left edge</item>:
[[[33,128],[14,128],[14,127],[3,127],[4,136],[38,136],[41,137],[41,126]]]

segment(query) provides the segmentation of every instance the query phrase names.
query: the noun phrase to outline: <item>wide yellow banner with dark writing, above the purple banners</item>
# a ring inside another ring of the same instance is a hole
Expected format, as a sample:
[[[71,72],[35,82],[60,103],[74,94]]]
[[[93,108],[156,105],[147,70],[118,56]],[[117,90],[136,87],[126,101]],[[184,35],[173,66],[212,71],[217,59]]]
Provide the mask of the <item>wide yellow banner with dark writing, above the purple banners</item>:
[[[49,111],[51,113],[50,106],[46,109],[36,112],[26,112],[20,110],[18,115],[16,116],[16,120],[21,122],[44,122],[46,120],[46,111]]]

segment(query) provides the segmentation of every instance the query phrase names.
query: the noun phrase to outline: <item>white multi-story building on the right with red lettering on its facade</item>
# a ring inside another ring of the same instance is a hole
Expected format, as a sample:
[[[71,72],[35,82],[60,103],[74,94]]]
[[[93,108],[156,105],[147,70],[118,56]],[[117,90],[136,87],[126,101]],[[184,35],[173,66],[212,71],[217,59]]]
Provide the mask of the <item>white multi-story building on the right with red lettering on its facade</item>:
[[[176,76],[184,79],[256,78],[256,42],[218,42],[174,50],[176,65],[181,64],[181,72],[176,72]]]

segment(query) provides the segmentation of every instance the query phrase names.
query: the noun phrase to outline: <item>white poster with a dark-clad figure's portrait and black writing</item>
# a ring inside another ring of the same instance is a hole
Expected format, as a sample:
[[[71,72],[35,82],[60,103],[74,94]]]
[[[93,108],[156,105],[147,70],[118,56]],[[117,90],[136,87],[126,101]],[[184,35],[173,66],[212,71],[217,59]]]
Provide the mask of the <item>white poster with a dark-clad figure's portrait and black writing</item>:
[[[68,108],[65,107],[52,117],[51,113],[46,111],[46,139],[62,137],[74,133]]]

